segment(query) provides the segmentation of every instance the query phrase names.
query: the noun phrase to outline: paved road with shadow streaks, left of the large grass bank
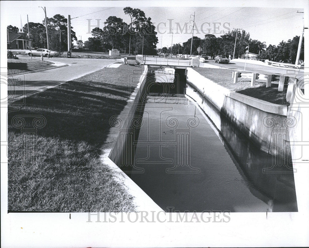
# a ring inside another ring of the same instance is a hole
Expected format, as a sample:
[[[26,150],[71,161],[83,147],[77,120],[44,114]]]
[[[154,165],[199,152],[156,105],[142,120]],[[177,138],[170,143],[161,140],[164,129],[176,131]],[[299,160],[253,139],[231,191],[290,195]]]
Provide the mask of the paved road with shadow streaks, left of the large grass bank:
[[[39,60],[40,58],[34,57],[33,59]],[[23,75],[8,75],[7,94],[9,102],[20,99],[26,94],[31,95],[38,91],[54,87],[64,81],[81,77],[85,74],[102,69],[117,61],[112,59],[86,58],[52,58],[46,60],[51,62],[66,63],[69,66]]]

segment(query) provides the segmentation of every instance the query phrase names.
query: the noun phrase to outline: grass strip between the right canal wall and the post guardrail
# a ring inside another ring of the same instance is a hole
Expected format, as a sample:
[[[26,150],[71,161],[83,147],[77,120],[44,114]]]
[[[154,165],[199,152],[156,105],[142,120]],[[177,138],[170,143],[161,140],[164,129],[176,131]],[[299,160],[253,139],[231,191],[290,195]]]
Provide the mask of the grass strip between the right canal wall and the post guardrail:
[[[272,84],[266,88],[266,80],[256,80],[256,84],[251,87],[251,79],[239,78],[239,81],[234,84],[232,78],[232,70],[216,69],[216,68],[193,68],[199,74],[211,81],[225,87],[228,90],[238,92],[243,95],[251,96],[260,100],[275,104],[287,104],[284,99],[286,95],[287,85],[284,86],[283,92],[278,91],[278,84]]]

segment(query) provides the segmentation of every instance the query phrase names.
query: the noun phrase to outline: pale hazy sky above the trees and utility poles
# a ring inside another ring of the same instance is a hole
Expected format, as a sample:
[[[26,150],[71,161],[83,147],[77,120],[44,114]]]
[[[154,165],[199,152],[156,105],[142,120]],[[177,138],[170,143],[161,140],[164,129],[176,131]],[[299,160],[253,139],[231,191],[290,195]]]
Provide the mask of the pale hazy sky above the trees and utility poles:
[[[258,7],[250,7],[250,4],[243,4],[243,2],[237,1],[234,2],[234,6],[230,6],[231,4],[224,4],[226,1],[223,0],[215,2],[197,1],[196,7],[192,7],[193,4],[191,4],[190,7],[184,6],[188,1],[165,1],[167,5],[170,5],[165,7],[150,7],[153,1],[25,1],[23,3],[2,1],[2,3],[3,2],[5,2],[5,4],[1,6],[1,15],[3,11],[10,13],[6,15],[4,19],[5,26],[12,25],[20,27],[20,19],[22,19],[22,25],[24,25],[27,23],[27,14],[29,22],[42,23],[44,11],[38,6],[46,6],[48,17],[61,14],[67,18],[68,15],[71,15],[71,26],[76,32],[78,39],[80,39],[79,36],[81,36],[83,41],[91,37],[89,31],[98,26],[98,21],[96,19],[99,19],[100,28],[104,27],[104,21],[111,15],[122,18],[123,21],[129,23],[129,16],[124,14],[123,8],[125,6],[140,8],[145,12],[146,17],[151,18],[156,26],[159,40],[157,48],[161,48],[161,40],[162,46],[164,47],[171,46],[171,43],[182,44],[190,39],[192,37],[194,12],[194,36],[204,38],[205,34],[210,33],[218,37],[233,28],[240,28],[249,32],[253,40],[265,41],[267,46],[269,44],[277,45],[282,40],[287,41],[293,39],[296,35],[299,36],[304,25],[303,13],[297,13],[304,11],[299,1],[289,1],[289,4],[284,1],[266,1],[268,4],[260,4]],[[210,4],[205,4],[205,2],[209,2]],[[263,3],[265,1],[260,2]],[[62,3],[62,6],[60,3]],[[280,6],[276,3],[280,3]],[[21,5],[23,6],[20,7]],[[202,5],[207,6],[205,7]],[[265,7],[265,5],[268,5],[268,7]],[[172,28],[173,35],[171,32]]]

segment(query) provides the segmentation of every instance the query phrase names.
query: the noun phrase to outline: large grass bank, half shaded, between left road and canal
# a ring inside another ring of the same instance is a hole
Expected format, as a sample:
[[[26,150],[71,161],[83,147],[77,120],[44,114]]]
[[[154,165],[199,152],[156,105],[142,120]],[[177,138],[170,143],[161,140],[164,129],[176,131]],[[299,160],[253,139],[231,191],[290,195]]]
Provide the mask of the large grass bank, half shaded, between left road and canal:
[[[105,68],[27,97],[18,111],[9,112],[9,210],[134,211],[133,197],[115,180],[113,170],[102,164],[99,154],[110,117],[120,114],[135,87],[136,83],[129,87],[130,74],[134,70],[139,77],[142,69]],[[36,163],[23,166],[23,136],[20,128],[12,126],[16,115],[27,116],[26,127],[33,127],[32,115],[46,119],[37,130]]]

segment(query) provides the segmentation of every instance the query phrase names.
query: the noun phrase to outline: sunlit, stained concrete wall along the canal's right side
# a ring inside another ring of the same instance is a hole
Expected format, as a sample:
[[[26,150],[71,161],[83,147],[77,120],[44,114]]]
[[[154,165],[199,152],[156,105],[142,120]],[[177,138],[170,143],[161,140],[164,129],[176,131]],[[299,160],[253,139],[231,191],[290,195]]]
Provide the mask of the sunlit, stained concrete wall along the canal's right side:
[[[273,155],[290,152],[288,128],[294,124],[294,120],[287,118],[287,106],[272,104],[229,91],[203,77],[192,68],[188,68],[187,83],[196,88],[262,151]],[[201,102],[203,99],[191,97],[197,101],[199,106],[203,106]],[[203,108],[203,110],[208,115],[207,109]],[[221,130],[220,118],[209,114],[210,119]]]

